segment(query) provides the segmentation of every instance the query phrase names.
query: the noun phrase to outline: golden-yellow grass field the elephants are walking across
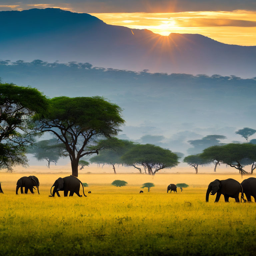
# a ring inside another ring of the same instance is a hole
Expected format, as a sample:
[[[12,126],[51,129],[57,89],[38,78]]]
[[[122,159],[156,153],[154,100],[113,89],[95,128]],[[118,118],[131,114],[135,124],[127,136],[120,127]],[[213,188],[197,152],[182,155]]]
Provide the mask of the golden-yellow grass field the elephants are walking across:
[[[29,175],[0,173],[0,255],[255,255],[256,204],[205,203],[209,182],[241,182],[238,174],[81,174],[86,198],[52,198],[51,185],[69,173],[39,173],[40,195],[15,195]],[[113,187],[115,179],[128,185]],[[155,187],[139,194],[145,182]],[[181,182],[189,187],[166,193]]]

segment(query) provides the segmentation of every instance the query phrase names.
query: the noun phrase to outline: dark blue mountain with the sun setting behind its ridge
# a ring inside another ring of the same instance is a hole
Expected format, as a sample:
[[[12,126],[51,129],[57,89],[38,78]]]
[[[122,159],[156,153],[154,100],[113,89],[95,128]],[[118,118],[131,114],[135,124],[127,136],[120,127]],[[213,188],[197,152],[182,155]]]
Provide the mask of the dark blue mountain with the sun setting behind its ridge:
[[[8,21],[8,22],[7,22]],[[44,59],[151,72],[256,76],[256,46],[227,45],[198,34],[160,36],[107,25],[60,9],[2,11],[0,59]]]

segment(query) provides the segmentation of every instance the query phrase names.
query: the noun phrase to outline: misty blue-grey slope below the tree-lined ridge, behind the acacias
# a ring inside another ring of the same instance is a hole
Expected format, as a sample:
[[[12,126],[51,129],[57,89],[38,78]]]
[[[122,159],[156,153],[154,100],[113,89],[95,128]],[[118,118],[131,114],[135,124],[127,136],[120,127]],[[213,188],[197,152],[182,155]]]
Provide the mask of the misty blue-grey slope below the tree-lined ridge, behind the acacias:
[[[187,140],[209,134],[243,140],[234,132],[256,127],[255,79],[35,63],[0,64],[0,77],[37,87],[49,97],[104,96],[124,109],[123,133],[131,139],[163,135],[170,138],[166,147],[185,153]]]

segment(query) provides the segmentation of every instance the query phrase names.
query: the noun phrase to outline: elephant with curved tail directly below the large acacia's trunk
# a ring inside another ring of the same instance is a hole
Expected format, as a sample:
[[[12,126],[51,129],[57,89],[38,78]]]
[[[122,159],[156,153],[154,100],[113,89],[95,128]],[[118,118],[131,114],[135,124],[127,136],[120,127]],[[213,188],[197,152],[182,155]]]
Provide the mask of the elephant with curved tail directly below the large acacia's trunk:
[[[51,197],[54,197],[55,193],[58,197],[60,197],[59,191],[64,191],[64,196],[68,196],[68,191],[70,191],[69,196],[73,196],[74,193],[76,193],[79,197],[82,197],[79,194],[80,183],[83,188],[83,194],[84,196],[86,196],[84,193],[84,186],[82,182],[77,177],[70,175],[64,178],[60,177],[54,182],[54,184],[52,185],[52,187],[54,187],[53,192],[51,187]]]

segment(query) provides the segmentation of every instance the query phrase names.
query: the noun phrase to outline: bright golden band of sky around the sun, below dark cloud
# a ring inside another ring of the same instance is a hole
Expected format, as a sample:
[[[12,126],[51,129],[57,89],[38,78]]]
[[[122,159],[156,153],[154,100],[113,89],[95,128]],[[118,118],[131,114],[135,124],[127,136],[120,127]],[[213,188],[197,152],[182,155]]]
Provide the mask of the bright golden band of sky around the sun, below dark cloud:
[[[148,29],[161,35],[202,34],[227,44],[256,45],[256,12],[90,13],[107,24]]]

